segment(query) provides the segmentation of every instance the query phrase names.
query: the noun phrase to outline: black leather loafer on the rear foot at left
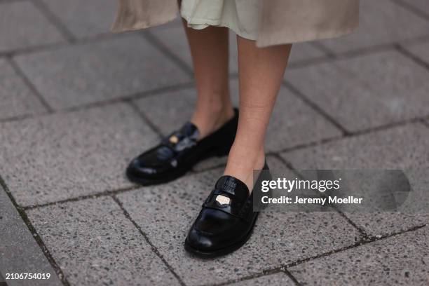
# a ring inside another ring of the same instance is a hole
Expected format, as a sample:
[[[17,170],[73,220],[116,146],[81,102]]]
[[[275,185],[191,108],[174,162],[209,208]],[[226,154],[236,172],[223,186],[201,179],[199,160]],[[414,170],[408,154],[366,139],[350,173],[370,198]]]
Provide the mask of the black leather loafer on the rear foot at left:
[[[134,158],[126,170],[131,182],[148,186],[170,182],[188,172],[193,165],[210,156],[224,156],[236,137],[238,109],[234,116],[211,135],[198,139],[198,128],[188,122],[172,132],[156,147]]]

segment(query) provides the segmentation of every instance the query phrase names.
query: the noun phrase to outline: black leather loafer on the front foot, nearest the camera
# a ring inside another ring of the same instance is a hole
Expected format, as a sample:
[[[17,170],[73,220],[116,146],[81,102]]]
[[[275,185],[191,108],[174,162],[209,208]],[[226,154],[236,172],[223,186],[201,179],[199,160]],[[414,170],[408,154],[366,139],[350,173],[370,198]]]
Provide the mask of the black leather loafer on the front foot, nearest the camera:
[[[268,170],[266,163],[264,170]],[[244,245],[259,214],[253,211],[253,197],[263,179],[271,179],[269,172],[261,172],[249,194],[246,184],[239,179],[220,177],[189,230],[185,250],[198,257],[210,258],[228,254]]]

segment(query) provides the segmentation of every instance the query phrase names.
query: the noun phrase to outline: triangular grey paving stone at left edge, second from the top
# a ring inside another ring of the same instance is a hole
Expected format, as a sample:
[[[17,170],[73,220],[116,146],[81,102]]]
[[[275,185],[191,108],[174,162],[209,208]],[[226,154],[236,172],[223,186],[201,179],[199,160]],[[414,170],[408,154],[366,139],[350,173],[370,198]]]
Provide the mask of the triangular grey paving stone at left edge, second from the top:
[[[0,59],[0,119],[39,114],[46,109],[8,62]]]

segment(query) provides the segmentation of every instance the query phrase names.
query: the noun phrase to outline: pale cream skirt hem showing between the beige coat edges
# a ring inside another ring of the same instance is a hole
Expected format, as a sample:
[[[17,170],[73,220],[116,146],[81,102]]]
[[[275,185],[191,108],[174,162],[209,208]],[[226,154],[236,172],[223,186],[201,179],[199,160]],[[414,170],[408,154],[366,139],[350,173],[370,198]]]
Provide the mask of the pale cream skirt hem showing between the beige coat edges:
[[[188,27],[228,27],[250,40],[257,39],[261,14],[261,0],[182,0],[180,7]]]

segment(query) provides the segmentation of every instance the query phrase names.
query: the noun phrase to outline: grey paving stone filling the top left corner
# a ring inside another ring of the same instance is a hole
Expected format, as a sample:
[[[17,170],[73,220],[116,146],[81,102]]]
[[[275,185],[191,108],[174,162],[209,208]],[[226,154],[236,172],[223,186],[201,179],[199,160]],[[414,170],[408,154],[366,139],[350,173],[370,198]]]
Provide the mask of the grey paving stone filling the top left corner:
[[[0,52],[64,41],[31,1],[0,4]]]

